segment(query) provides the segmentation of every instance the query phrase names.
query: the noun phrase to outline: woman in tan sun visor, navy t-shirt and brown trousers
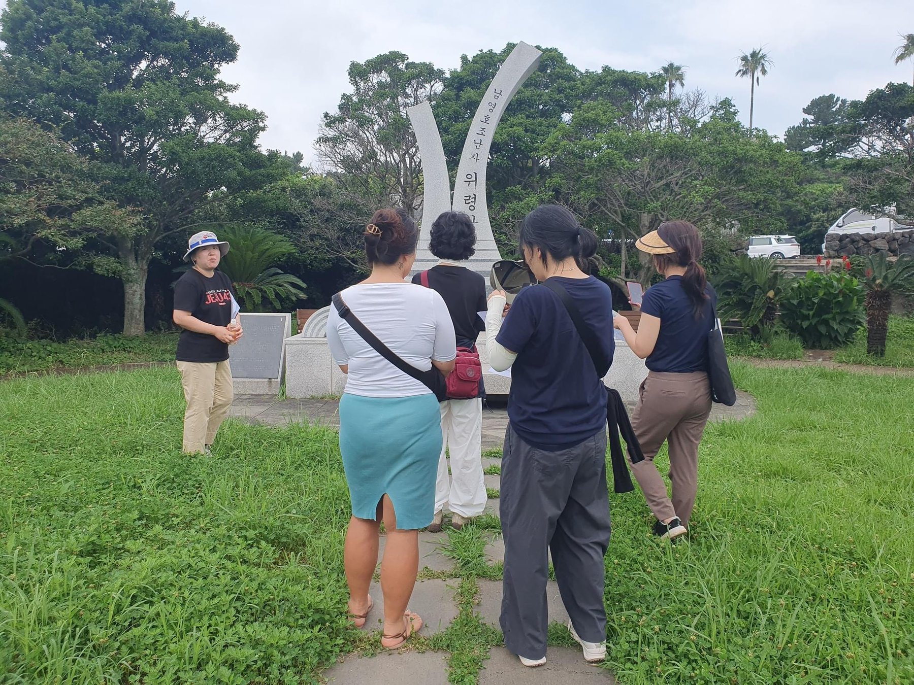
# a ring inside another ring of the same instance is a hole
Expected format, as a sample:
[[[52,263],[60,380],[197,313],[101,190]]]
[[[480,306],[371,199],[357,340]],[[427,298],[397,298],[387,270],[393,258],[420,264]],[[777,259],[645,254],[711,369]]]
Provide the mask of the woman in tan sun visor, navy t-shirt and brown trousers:
[[[622,331],[632,352],[647,359],[632,427],[644,460],[630,465],[648,506],[657,517],[654,533],[675,538],[687,532],[698,489],[698,443],[711,413],[707,378],[707,333],[714,325],[717,295],[707,283],[701,237],[685,221],[666,221],[639,238],[638,249],[652,255],[665,277],[644,293],[638,332],[622,316]],[[654,457],[666,441],[670,454],[672,500]]]

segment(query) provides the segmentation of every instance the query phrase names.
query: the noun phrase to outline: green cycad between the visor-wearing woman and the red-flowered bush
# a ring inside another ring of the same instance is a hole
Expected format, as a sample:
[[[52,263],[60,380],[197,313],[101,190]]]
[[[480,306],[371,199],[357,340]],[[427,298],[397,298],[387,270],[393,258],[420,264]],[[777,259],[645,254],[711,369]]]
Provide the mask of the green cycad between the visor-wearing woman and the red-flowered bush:
[[[773,259],[740,255],[722,264],[714,280],[722,318],[739,319],[754,338],[771,330],[787,285]]]

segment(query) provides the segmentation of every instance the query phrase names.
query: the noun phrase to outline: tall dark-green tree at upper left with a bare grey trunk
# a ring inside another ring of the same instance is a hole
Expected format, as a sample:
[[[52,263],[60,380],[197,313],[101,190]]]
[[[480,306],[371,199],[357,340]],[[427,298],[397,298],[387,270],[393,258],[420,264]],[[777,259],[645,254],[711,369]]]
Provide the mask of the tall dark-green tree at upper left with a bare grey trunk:
[[[94,234],[96,269],[122,279],[123,332],[143,333],[149,262],[196,214],[269,177],[259,111],[229,102],[219,68],[238,45],[167,0],[12,0],[2,15],[0,100],[58,127],[105,194],[143,221]]]

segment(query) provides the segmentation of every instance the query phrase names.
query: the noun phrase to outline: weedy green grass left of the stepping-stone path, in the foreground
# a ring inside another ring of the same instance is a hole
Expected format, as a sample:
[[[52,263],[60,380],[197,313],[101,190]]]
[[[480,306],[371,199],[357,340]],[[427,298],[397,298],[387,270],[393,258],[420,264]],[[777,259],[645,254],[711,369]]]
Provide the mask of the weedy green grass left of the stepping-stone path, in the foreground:
[[[180,452],[161,368],[0,385],[0,681],[301,682],[349,649],[335,433]]]

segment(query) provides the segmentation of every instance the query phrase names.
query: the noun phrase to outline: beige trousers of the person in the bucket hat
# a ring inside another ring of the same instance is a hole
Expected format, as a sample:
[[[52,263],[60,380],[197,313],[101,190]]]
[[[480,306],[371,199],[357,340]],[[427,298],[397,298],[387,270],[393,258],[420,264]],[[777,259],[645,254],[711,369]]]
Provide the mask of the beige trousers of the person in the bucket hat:
[[[178,362],[187,409],[184,413],[184,451],[203,452],[212,445],[228,415],[233,397],[231,367],[225,362]]]

